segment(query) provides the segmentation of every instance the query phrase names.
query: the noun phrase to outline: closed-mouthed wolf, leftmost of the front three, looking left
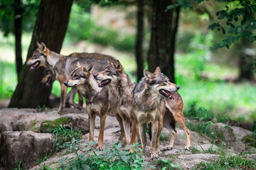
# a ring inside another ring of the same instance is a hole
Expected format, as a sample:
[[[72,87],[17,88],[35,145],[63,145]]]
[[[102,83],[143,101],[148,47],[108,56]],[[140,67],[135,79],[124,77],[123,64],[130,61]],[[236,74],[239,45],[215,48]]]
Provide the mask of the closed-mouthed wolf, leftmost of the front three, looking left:
[[[100,116],[100,134],[97,149],[103,147],[103,136],[107,110],[110,107],[107,86],[100,88],[92,74],[93,64],[87,67],[78,67],[72,72],[70,78],[65,81],[65,86],[77,86],[85,97],[86,109],[89,115],[89,141],[94,139],[95,116]]]

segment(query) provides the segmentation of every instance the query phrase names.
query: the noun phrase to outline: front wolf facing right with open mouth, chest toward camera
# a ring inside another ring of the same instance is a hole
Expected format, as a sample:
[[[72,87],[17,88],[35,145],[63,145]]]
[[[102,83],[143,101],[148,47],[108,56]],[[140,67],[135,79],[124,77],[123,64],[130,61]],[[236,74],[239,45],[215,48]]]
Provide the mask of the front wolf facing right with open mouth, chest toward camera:
[[[146,145],[146,124],[151,132],[151,159],[159,158],[159,136],[164,125],[166,111],[165,98],[171,99],[171,91],[178,91],[179,86],[172,84],[161,73],[159,67],[154,73],[144,70],[144,78],[134,89],[134,117],[136,118],[142,149]]]

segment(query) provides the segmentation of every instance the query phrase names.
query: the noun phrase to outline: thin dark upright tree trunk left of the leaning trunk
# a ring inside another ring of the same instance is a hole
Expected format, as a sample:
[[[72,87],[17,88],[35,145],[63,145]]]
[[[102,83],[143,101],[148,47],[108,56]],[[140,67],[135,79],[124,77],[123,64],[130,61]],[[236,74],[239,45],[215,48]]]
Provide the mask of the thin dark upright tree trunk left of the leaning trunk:
[[[22,69],[22,50],[21,50],[21,31],[22,31],[22,13],[21,0],[14,0],[14,35],[15,35],[15,56],[17,77]]]

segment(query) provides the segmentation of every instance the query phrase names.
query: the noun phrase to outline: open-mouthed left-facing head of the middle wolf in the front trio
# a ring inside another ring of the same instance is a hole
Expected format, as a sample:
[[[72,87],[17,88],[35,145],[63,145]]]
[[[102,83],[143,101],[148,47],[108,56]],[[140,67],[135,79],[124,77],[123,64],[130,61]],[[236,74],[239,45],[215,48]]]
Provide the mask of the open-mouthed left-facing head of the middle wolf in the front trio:
[[[102,72],[98,72],[95,75],[95,79],[100,80],[99,87],[103,87],[110,83],[116,83],[122,74],[124,74],[124,69],[119,60],[117,60],[115,64],[112,62],[107,64],[107,67]]]

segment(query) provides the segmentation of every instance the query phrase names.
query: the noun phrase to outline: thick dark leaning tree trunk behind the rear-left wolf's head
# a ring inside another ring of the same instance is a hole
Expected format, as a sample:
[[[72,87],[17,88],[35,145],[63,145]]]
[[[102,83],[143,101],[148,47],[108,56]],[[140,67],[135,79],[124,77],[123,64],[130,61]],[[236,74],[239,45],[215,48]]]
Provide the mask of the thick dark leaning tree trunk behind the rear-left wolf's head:
[[[45,42],[50,50],[60,52],[72,3],[72,0],[41,1],[27,58],[36,50],[37,41]],[[42,77],[43,68],[29,72],[28,67],[23,65],[9,108],[35,108],[47,103],[51,89],[40,83]]]

